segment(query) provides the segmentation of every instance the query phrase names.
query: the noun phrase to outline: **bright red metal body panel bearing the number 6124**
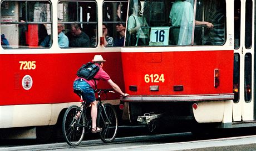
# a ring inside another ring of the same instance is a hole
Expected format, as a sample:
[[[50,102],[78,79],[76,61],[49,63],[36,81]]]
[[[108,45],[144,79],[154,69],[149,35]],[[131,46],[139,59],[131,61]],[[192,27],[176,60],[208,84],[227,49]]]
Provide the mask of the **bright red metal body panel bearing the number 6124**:
[[[122,53],[122,61],[125,88],[130,95],[232,93],[233,50]],[[214,69],[220,74],[217,88]],[[164,81],[156,80],[157,75],[163,75]],[[130,91],[131,85],[137,86],[137,91]],[[159,91],[150,91],[152,85],[159,86]],[[183,91],[174,91],[174,86],[183,86]]]

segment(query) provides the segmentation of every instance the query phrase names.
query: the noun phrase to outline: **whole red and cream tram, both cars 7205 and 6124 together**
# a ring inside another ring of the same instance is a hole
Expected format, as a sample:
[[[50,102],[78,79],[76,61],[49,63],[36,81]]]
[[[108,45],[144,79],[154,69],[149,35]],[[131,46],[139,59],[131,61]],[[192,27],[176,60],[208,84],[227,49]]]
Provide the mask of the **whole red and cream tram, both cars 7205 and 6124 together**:
[[[128,112],[120,117],[131,123],[256,126],[255,1],[179,2],[189,9],[175,24],[174,0],[2,0],[0,138],[40,138],[41,130],[58,127],[66,108],[78,103],[72,92],[78,67],[95,54],[130,94],[121,100]],[[102,23],[114,38],[116,24],[126,23],[123,48],[103,46]],[[69,37],[72,24],[95,43],[62,48],[58,26]],[[119,95],[108,98],[119,105]]]

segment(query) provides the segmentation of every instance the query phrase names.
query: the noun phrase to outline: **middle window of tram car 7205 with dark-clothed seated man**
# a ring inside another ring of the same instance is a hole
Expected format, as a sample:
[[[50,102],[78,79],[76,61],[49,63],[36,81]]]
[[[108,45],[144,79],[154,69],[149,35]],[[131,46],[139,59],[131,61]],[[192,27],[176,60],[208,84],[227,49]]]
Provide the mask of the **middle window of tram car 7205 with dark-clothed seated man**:
[[[97,4],[95,1],[59,1],[58,24],[63,25],[63,33],[68,37],[70,48],[95,47],[92,39],[97,39]]]

